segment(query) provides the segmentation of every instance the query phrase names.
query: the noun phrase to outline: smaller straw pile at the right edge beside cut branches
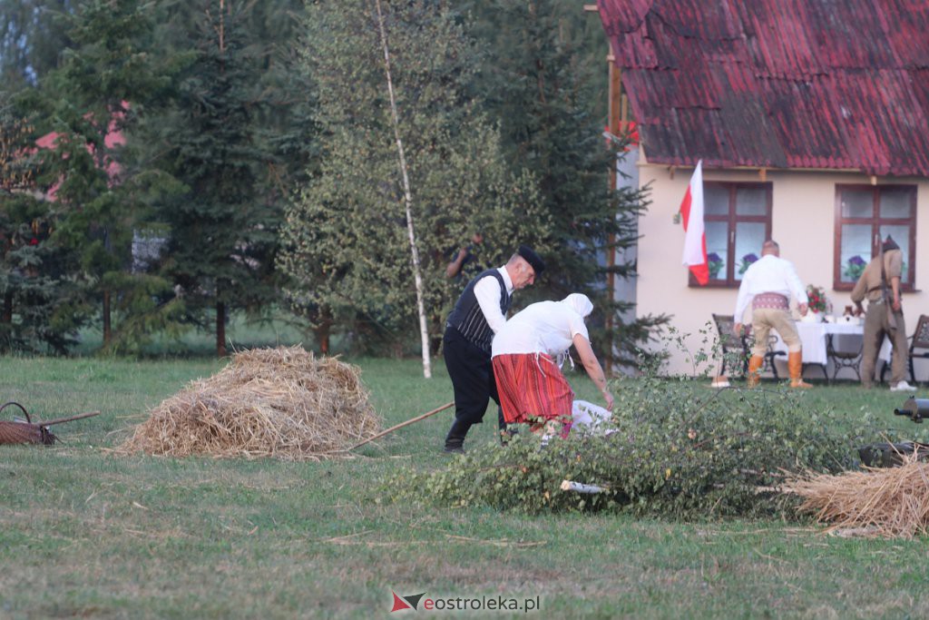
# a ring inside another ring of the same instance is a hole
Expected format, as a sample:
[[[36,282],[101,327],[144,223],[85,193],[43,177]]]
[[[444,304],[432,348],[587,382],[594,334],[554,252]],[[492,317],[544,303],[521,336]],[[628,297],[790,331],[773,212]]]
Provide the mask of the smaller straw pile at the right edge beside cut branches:
[[[784,493],[804,498],[800,510],[830,522],[830,533],[911,538],[929,528],[929,463],[904,455],[896,468],[865,468],[838,476],[788,481]]]

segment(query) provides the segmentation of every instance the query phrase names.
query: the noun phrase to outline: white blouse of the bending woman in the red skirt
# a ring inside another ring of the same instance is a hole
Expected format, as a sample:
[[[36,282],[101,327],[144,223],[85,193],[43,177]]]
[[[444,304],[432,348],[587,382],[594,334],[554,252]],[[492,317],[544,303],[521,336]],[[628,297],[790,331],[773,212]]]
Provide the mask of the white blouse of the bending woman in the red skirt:
[[[590,339],[577,310],[564,301],[540,301],[504,324],[493,338],[492,355],[547,353],[556,358],[569,350],[578,334]]]

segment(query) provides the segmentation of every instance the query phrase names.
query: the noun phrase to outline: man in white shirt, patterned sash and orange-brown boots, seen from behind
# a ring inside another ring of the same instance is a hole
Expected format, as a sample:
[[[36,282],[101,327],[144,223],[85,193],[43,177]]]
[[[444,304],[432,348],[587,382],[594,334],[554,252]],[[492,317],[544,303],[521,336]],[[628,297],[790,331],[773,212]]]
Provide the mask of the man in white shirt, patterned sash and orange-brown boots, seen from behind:
[[[791,296],[796,298],[800,315],[808,310],[804,284],[800,282],[793,263],[780,257],[780,246],[768,239],[761,248],[761,258],[752,263],[742,277],[739,297],[736,299],[735,332],[742,334],[742,317],[752,302],[752,331],[754,348],[749,360],[748,385],[758,385],[759,372],[765,361],[767,336],[777,330],[787,345],[787,369],[792,388],[812,388],[803,378],[803,345],[791,316]]]

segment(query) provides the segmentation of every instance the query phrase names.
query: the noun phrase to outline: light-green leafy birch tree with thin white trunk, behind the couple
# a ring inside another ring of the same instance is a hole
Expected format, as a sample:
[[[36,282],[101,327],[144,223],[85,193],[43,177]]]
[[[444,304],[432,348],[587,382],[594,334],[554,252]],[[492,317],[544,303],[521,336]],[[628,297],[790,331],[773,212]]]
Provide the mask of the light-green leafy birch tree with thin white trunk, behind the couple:
[[[384,11],[429,331],[438,336],[461,288],[445,277],[450,253],[477,230],[492,263],[519,242],[544,250],[549,219],[535,181],[510,171],[498,131],[467,95],[478,49],[459,16],[425,0]],[[288,209],[279,264],[297,308],[333,317],[369,345],[408,344],[416,295],[373,3],[309,5],[303,46],[321,164]]]

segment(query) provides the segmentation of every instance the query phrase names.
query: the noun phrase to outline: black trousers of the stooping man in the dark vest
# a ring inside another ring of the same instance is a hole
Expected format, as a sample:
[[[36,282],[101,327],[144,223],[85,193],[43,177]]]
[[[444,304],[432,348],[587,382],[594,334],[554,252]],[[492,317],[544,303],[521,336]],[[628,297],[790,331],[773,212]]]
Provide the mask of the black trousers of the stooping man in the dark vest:
[[[455,418],[466,424],[480,424],[491,398],[500,404],[491,354],[465,340],[454,327],[445,328],[442,354],[455,390]]]

